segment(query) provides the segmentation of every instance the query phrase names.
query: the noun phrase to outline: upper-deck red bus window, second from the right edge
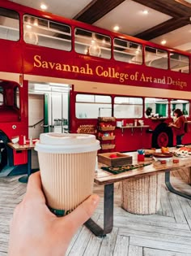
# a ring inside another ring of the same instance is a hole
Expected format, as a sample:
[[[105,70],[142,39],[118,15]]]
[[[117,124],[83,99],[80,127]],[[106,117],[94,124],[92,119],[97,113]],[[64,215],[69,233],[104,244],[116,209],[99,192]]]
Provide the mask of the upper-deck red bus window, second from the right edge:
[[[145,64],[149,67],[168,69],[168,52],[166,50],[146,46]]]

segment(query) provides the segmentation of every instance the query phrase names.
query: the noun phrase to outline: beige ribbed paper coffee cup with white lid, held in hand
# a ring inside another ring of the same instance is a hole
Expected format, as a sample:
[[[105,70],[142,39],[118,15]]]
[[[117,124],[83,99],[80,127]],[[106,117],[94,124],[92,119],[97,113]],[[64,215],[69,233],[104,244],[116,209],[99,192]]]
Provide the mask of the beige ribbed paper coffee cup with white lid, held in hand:
[[[92,193],[100,142],[87,134],[42,133],[35,149],[47,205],[66,215]]]

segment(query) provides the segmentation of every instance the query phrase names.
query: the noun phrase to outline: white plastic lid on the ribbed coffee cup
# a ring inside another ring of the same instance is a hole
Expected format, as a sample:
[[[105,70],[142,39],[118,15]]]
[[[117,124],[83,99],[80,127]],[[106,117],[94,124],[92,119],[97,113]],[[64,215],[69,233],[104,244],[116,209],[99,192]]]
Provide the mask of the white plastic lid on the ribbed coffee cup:
[[[41,133],[35,150],[45,153],[84,153],[100,150],[100,141],[91,134]]]

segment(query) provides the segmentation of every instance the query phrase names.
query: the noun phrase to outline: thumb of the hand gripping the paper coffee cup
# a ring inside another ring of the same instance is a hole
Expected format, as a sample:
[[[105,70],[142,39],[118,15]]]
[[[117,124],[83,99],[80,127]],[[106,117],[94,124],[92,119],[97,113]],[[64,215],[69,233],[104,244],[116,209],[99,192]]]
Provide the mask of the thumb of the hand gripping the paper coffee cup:
[[[99,202],[100,197],[98,195],[91,195],[69,215],[60,219],[60,224],[63,224],[66,230],[68,229],[73,233],[76,232],[77,229],[87,221],[87,219],[90,219]]]

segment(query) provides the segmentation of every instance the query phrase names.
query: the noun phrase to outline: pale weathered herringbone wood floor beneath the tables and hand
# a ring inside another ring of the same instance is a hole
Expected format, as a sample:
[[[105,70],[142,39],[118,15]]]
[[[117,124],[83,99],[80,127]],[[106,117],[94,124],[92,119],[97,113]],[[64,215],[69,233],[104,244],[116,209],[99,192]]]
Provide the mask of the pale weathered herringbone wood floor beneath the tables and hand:
[[[191,193],[188,180],[187,169],[173,171],[172,184]],[[71,241],[66,255],[191,256],[190,200],[168,192],[163,185],[161,207],[156,215],[132,215],[121,209],[119,187],[115,185],[112,233],[99,238],[83,226]],[[0,179],[0,256],[7,255],[11,215],[25,190],[26,184],[19,183],[18,176]],[[103,191],[102,186],[95,185],[95,193],[101,197],[94,215],[99,223],[103,221]]]

